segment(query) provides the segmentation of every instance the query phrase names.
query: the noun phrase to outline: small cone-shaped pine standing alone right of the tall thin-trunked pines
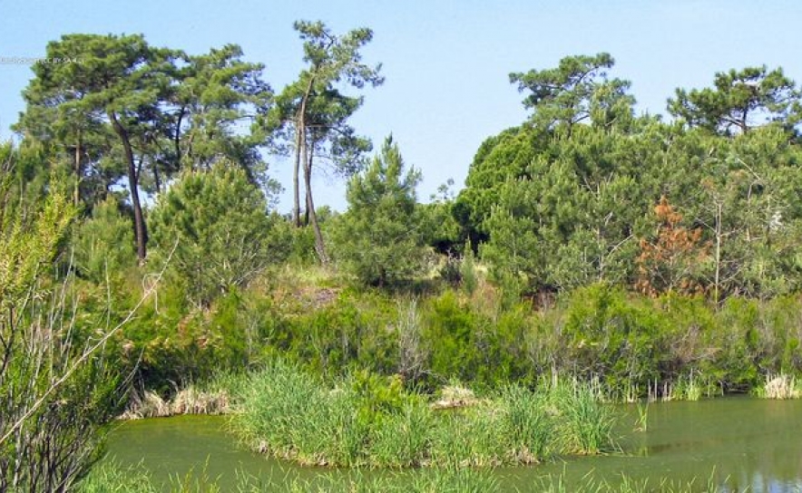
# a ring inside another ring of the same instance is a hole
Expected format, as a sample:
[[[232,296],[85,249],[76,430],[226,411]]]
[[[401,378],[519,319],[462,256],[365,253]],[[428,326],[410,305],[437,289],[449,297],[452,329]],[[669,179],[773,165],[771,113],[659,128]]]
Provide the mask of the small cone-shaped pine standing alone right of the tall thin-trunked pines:
[[[425,264],[416,224],[417,169],[404,169],[392,137],[368,169],[348,184],[348,210],[334,230],[338,259],[366,285],[409,279]]]

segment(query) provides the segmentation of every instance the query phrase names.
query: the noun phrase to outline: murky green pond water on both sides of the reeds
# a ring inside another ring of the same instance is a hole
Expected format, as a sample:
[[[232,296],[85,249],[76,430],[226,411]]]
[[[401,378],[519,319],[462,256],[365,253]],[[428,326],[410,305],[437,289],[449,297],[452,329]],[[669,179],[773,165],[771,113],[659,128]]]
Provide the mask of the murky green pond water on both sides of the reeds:
[[[528,490],[545,475],[564,473],[570,483],[590,473],[611,482],[621,474],[648,478],[654,488],[659,478],[686,482],[696,478],[702,486],[711,476],[719,484],[726,479],[733,491],[783,493],[802,488],[802,401],[653,403],[645,432],[633,431],[634,407],[624,412],[617,430],[621,453],[498,469],[503,486]],[[274,480],[346,474],[298,468],[240,449],[220,417],[125,422],[112,432],[109,454],[123,465],[142,462],[160,481],[205,469],[224,488],[234,484],[238,469]]]

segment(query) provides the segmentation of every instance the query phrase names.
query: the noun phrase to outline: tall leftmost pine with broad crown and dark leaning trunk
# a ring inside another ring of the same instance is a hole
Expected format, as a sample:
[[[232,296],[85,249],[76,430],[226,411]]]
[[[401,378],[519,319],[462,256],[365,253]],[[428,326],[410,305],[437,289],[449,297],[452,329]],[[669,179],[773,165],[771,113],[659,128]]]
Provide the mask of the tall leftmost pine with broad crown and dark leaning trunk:
[[[161,103],[169,98],[176,55],[153,48],[138,34],[66,34],[48,43],[47,56],[72,63],[36,63],[34,80],[24,91],[28,111],[19,128],[72,158],[76,202],[83,175],[95,164],[104,175],[105,189],[127,176],[141,261],[147,231],[139,198],[142,173],[137,169],[142,169],[144,157],[137,164],[133,148],[140,144],[153,152],[158,147],[153,144],[161,133]],[[110,163],[122,167],[110,168]]]

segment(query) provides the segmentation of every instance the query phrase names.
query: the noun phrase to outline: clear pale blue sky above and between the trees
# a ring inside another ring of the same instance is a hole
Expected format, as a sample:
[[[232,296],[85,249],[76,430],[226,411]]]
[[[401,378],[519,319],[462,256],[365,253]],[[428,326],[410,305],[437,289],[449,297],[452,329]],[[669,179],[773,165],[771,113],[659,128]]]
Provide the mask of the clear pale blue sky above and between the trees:
[[[386,83],[365,92],[353,124],[377,145],[394,134],[406,162],[423,171],[420,198],[449,178],[461,187],[479,144],[526,118],[509,73],[566,55],[611,53],[612,75],[631,80],[639,111],[652,113],[665,111],[675,88],[707,86],[730,68],[782,66],[802,82],[796,1],[0,0],[0,57],[43,56],[48,41],[71,33],[141,33],[189,53],[238,43],[249,61],[267,65],[279,91],[302,67],[298,19],[337,33],[374,30],[364,58],[383,63]],[[0,64],[0,140],[11,137],[30,75],[24,64]],[[289,163],[270,165],[289,188]],[[318,204],[345,208],[343,182],[319,177],[314,186]]]

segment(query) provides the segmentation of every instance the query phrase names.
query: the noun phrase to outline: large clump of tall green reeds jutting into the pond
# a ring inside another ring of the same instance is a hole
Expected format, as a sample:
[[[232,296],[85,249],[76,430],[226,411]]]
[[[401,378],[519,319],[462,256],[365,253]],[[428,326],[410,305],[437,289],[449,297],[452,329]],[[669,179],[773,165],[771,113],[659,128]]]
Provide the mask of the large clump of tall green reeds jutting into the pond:
[[[611,408],[575,382],[510,386],[438,409],[396,381],[366,374],[333,388],[285,362],[246,377],[233,426],[262,452],[324,466],[410,468],[529,464],[613,447]]]

